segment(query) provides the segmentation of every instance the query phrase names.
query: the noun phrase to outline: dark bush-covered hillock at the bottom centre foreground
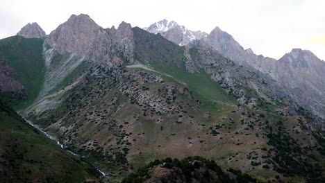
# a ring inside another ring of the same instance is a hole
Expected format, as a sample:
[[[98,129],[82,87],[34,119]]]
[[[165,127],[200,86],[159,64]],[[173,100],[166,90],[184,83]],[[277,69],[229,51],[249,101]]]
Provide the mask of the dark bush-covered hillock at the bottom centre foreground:
[[[223,182],[223,183],[254,183],[258,182],[247,174],[232,168],[222,171],[222,168],[202,157],[187,157],[178,159],[156,159],[136,173],[131,173],[123,183],[135,182]]]

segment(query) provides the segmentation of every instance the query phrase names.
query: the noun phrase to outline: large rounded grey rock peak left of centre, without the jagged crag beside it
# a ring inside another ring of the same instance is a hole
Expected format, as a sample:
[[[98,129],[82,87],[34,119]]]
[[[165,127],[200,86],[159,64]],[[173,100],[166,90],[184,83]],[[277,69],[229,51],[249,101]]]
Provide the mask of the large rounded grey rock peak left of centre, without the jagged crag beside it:
[[[86,60],[112,64],[109,53],[112,51],[110,47],[113,39],[88,15],[72,15],[50,33],[45,43],[61,55],[73,53]]]

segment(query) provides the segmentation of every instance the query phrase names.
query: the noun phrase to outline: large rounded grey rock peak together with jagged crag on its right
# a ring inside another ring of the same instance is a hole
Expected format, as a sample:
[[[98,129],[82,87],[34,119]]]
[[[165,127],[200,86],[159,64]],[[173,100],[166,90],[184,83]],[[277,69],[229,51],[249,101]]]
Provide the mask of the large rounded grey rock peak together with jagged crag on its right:
[[[101,28],[88,15],[72,15],[45,40],[61,55],[74,54],[97,64],[115,67],[133,62],[133,32],[122,23],[113,33]]]

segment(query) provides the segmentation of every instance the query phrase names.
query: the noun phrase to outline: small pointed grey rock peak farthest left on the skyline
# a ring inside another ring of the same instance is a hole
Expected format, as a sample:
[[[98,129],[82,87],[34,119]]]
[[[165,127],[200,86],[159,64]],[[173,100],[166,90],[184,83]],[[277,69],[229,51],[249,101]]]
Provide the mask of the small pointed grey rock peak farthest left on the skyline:
[[[32,24],[28,23],[17,33],[17,35],[26,38],[44,38],[46,36],[44,30],[35,22]]]

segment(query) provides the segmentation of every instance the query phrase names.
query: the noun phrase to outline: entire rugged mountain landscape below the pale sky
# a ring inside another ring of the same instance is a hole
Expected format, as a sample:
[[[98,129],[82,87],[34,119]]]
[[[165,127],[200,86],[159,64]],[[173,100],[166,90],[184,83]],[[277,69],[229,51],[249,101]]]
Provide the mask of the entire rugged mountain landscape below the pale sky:
[[[325,182],[324,78],[218,27],[27,24],[0,40],[0,182]]]

